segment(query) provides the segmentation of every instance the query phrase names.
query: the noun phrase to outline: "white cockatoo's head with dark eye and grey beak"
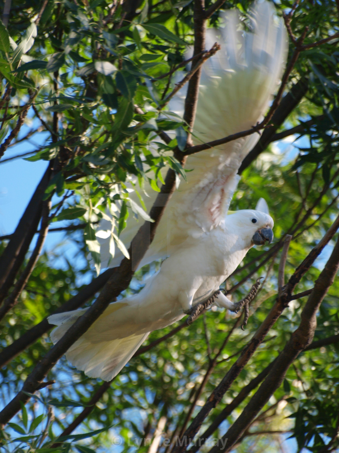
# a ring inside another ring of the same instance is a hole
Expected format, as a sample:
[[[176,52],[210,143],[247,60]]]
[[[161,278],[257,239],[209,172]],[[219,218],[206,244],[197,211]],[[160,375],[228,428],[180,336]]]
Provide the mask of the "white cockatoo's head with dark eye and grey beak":
[[[241,231],[241,236],[249,247],[272,242],[273,219],[268,214],[268,206],[264,198],[260,198],[255,209],[235,211],[230,217],[233,228]]]

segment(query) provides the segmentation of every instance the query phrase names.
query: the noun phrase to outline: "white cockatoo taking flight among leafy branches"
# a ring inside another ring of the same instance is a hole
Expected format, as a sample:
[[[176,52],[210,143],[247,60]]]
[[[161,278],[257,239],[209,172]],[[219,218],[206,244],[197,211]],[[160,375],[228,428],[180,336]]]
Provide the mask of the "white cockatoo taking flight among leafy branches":
[[[282,20],[274,16],[273,5],[263,1],[252,11],[252,31],[241,31],[240,24],[231,11],[221,39],[212,30],[208,33],[207,41],[217,40],[221,50],[203,68],[196,143],[250,129],[267,111],[277,88],[287,49]],[[167,259],[139,294],[110,304],[69,348],[66,357],[79,370],[111,380],[149,333],[183,318],[194,304],[219,289],[252,246],[272,241],[273,220],[263,199],[255,210],[228,212],[237,171],[258,139],[254,134],[189,156],[186,168],[193,171],[171,198],[141,265]],[[122,240],[128,243],[137,228],[127,225]],[[239,307],[221,293],[215,304],[232,311]],[[50,316],[49,323],[57,326],[52,341],[57,342],[85,311]]]

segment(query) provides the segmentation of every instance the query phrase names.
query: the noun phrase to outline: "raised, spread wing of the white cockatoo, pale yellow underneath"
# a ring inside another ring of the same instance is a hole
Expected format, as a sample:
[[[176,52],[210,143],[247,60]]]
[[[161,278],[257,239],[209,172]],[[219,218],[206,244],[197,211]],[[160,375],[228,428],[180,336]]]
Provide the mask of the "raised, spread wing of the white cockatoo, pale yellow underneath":
[[[277,89],[287,54],[286,29],[268,2],[258,2],[251,15],[251,31],[241,29],[235,11],[225,14],[225,28],[207,30],[207,47],[221,44],[221,50],[202,69],[198,108],[194,123],[194,144],[250,129],[268,110]],[[179,92],[170,110],[182,115],[184,93]],[[238,169],[259,134],[234,140],[188,157],[187,183],[180,183],[162,217],[155,239],[141,265],[168,256],[188,236],[199,237],[218,225],[228,211],[238,183]],[[151,208],[156,193],[146,188]],[[121,239],[128,245],[140,223],[130,219]],[[108,242],[101,246],[102,263],[108,262]],[[119,265],[116,255],[110,266]]]

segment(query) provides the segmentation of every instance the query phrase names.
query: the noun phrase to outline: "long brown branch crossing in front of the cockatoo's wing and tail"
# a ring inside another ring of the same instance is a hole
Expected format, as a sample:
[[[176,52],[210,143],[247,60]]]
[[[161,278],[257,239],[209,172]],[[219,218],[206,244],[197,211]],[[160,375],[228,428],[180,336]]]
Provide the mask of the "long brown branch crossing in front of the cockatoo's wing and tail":
[[[203,7],[203,0],[195,0],[195,40],[193,55],[202,52],[205,46],[206,21],[203,19]],[[193,65],[195,63],[196,62],[193,60]],[[185,99],[184,120],[188,124],[190,130],[193,127],[198,103],[200,72],[201,68],[199,68],[190,79]],[[57,129],[53,127],[53,130],[57,133]],[[186,156],[184,156],[179,149],[174,150],[174,156],[176,155],[178,155],[178,160],[183,165],[186,161]],[[174,190],[175,172],[170,169],[167,172],[165,184],[162,185],[160,193],[158,193],[155,203],[151,208],[150,217],[154,220],[154,222],[145,222],[139,228],[136,236],[132,240],[129,248],[131,259],[128,260],[127,258],[124,258],[122,260],[120,266],[114,269],[113,274],[109,277],[94,304],[79,319],[77,319],[64,336],[61,337],[61,339],[42,358],[38,365],[35,366],[31,374],[24,382],[22,390],[19,391],[14,399],[10,401],[9,404],[0,412],[0,425],[6,424],[21,409],[21,403],[26,403],[30,399],[27,393],[33,393],[37,389],[38,385],[41,384],[48,371],[52,369],[58,359],[88,330],[94,321],[99,318],[111,300],[117,297],[121,291],[128,287],[128,284],[132,279],[132,275],[137,269],[150,243],[153,241],[156,228]]]

